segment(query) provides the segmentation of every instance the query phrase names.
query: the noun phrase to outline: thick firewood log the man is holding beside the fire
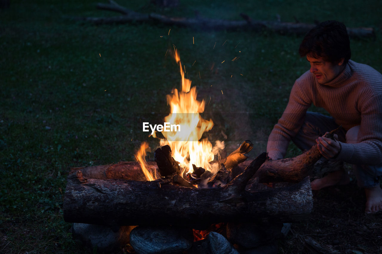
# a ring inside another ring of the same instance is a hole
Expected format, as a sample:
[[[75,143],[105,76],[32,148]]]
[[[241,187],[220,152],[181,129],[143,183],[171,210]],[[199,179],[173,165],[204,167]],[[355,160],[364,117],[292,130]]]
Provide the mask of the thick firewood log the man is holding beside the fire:
[[[341,126],[324,135],[332,138]],[[293,182],[298,183],[313,172],[314,164],[322,157],[317,145],[294,158],[279,160],[267,160],[257,170],[254,178],[258,178],[260,183],[271,182]],[[316,172],[317,174],[317,172]]]

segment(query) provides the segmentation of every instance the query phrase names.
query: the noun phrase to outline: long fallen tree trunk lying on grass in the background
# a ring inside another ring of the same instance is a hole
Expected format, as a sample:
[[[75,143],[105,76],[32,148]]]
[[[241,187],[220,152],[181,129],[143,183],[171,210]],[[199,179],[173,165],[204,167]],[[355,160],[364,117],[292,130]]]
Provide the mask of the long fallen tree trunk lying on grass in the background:
[[[167,25],[175,25],[181,27],[193,27],[198,29],[209,29],[209,30],[249,30],[249,31],[274,31],[278,34],[297,34],[304,35],[310,29],[312,29],[315,24],[305,24],[305,23],[291,23],[291,22],[280,22],[280,21],[258,21],[251,19],[248,15],[241,13],[240,16],[244,20],[231,21],[224,19],[210,19],[210,18],[175,18],[160,15],[157,13],[144,14],[137,13],[135,11],[129,10],[123,6],[118,5],[114,1],[109,1],[109,4],[98,3],[97,8],[102,10],[116,11],[123,15],[109,18],[94,18],[94,17],[81,17],[75,18],[78,20],[88,21],[94,24],[125,24],[134,22],[149,22],[149,23],[162,23]],[[348,34],[351,37],[374,37],[374,29],[371,27],[348,27]]]

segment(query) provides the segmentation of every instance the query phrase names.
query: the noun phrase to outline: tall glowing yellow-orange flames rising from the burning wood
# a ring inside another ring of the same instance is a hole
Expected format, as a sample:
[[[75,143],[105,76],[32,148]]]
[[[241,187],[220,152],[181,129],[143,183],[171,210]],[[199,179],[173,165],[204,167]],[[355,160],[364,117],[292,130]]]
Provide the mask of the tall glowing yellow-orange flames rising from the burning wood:
[[[193,171],[192,164],[211,171],[212,166],[209,162],[214,160],[212,144],[207,138],[201,140],[201,137],[204,132],[208,132],[214,126],[214,123],[212,120],[206,120],[200,116],[200,113],[204,111],[205,102],[204,100],[196,100],[196,87],[191,87],[191,80],[185,78],[185,72],[182,69],[180,57],[176,50],[175,59],[180,67],[182,88],[180,91],[174,88],[172,94],[167,95],[170,114],[164,120],[171,124],[179,124],[181,131],[162,132],[165,138],[160,140],[160,146],[169,145],[175,161],[180,162],[180,166],[188,170],[188,172]],[[155,133],[153,137],[156,137]],[[223,142],[220,144],[223,144]],[[146,147],[147,144],[142,143],[136,158],[143,169],[146,154],[142,153],[142,151],[145,151],[142,146]],[[183,172],[181,175],[183,175]],[[147,179],[149,180],[149,178]]]

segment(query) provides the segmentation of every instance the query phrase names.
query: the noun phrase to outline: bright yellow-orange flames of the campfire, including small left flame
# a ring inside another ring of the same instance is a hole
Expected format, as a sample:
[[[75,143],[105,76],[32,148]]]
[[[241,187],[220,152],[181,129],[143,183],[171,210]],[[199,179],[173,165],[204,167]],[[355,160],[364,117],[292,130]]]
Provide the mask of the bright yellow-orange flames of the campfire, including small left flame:
[[[167,95],[170,114],[164,118],[164,122],[178,126],[179,129],[163,131],[164,138],[160,139],[160,146],[169,146],[171,157],[175,162],[171,158],[169,160],[179,165],[181,172],[178,172],[178,174],[184,177],[185,180],[195,179],[194,168],[208,170],[210,172],[209,176],[215,175],[219,170],[219,162],[212,161],[214,161],[214,157],[219,153],[219,150],[224,149],[224,141],[217,140],[216,145],[212,148],[212,144],[207,138],[202,139],[203,133],[211,130],[214,123],[212,120],[201,117],[200,113],[204,111],[205,101],[196,99],[196,87],[191,87],[191,80],[185,78],[179,53],[175,48],[174,51],[176,63],[180,67],[181,90],[174,88],[172,94]],[[156,138],[156,132],[152,136]],[[135,154],[135,158],[141,165],[147,180],[152,181],[160,176],[156,172],[147,170],[145,156],[148,147],[149,145],[143,142],[141,148]],[[158,158],[158,156],[163,155],[160,150],[155,151],[155,155],[156,160],[163,160],[163,158]],[[176,165],[173,166],[177,167]],[[173,170],[168,172],[165,172],[165,170],[162,169],[160,174],[162,177],[176,173]],[[202,174],[204,171],[197,173]],[[188,179],[185,177],[186,175]]]

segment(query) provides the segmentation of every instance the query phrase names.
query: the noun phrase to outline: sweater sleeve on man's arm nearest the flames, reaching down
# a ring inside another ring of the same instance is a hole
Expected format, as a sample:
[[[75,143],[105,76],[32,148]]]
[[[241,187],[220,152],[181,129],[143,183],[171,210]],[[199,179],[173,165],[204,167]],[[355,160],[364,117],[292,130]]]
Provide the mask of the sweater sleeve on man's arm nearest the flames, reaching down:
[[[299,131],[306,111],[311,105],[311,99],[307,96],[306,82],[302,81],[301,78],[296,80],[284,113],[269,135],[267,152],[272,159],[284,158],[289,141]]]

